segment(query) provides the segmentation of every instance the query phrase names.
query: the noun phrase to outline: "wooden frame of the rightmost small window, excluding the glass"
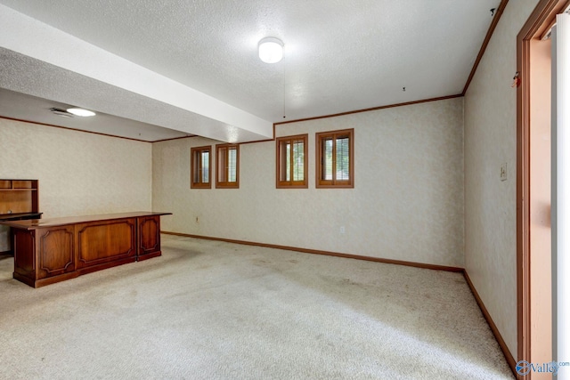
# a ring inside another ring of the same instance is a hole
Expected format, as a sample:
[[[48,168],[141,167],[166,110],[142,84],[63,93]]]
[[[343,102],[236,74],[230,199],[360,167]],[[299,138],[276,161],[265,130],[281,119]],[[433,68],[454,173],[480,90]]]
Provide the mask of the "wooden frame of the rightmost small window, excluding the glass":
[[[336,166],[337,154],[336,154],[336,141],[339,137],[348,137],[348,180],[338,180],[336,171],[332,171],[331,180],[322,179],[323,163],[322,163],[322,141],[325,139],[331,139],[333,141],[332,145],[332,167]],[[315,144],[316,144],[316,181],[315,187],[317,189],[352,189],[354,188],[354,128],[343,129],[339,131],[321,132],[315,134]]]

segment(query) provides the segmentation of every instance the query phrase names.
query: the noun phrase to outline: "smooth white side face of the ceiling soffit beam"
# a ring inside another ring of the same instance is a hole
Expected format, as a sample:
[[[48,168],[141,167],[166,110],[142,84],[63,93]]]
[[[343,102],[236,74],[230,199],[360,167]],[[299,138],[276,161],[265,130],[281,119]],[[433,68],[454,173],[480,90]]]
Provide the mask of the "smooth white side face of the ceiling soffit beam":
[[[0,46],[245,132],[273,137],[273,123],[270,121],[218,101],[2,4]]]

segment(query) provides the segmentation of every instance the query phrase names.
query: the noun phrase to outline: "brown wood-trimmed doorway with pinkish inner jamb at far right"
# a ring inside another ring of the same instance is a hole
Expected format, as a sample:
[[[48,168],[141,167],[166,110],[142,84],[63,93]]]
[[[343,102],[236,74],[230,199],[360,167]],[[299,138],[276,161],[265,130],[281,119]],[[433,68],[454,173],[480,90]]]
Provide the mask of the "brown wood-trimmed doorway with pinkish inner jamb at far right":
[[[554,356],[548,34],[568,5],[541,0],[517,36],[517,361],[546,363]]]

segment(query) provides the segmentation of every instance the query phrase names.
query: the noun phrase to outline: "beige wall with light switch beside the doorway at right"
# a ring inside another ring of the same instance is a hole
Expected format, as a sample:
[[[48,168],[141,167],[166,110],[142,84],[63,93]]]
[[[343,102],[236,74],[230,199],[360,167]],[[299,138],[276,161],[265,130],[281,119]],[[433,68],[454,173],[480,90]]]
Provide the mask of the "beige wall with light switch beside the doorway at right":
[[[465,265],[517,356],[517,34],[538,0],[507,4],[465,96]],[[508,180],[501,182],[501,164]]]

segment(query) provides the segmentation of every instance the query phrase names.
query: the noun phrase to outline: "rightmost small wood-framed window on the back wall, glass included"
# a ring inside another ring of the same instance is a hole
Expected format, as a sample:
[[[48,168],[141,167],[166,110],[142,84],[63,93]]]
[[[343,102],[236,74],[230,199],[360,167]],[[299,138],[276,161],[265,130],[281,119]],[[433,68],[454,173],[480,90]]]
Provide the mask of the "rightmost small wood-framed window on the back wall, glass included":
[[[354,129],[316,133],[317,188],[354,188]]]

